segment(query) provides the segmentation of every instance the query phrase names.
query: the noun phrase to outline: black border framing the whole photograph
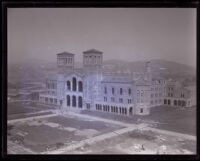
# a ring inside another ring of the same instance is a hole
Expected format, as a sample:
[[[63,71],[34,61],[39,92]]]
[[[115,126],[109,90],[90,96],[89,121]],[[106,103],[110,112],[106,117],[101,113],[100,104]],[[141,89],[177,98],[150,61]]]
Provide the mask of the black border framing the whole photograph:
[[[128,0],[88,0],[88,1],[2,1],[2,100],[1,100],[1,157],[4,160],[199,160],[199,19],[200,3],[194,1],[128,1]],[[7,9],[8,8],[196,8],[197,9],[197,153],[196,155],[16,155],[7,154]]]

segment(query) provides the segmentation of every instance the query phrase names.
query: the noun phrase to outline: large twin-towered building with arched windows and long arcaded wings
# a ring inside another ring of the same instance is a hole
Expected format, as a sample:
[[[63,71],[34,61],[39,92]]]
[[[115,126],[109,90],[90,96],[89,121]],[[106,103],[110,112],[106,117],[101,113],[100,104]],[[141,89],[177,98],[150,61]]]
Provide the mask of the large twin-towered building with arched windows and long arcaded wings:
[[[193,88],[152,78],[150,62],[136,78],[134,74],[103,73],[103,52],[96,49],[83,52],[81,69],[74,68],[74,56],[69,52],[57,54],[58,72],[46,80],[40,102],[70,111],[94,110],[125,116],[148,115],[153,106],[190,107],[196,103]]]

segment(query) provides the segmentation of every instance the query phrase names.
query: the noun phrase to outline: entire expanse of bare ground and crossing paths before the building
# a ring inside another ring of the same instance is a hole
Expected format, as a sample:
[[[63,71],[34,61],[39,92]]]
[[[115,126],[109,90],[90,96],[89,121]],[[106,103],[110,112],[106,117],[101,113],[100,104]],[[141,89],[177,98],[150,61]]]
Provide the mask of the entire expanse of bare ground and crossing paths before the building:
[[[149,116],[133,118],[88,111],[64,115],[57,112],[45,105],[9,103],[8,153],[196,153],[196,139],[190,137],[195,136],[196,108],[155,107]],[[180,134],[172,136],[154,128]]]

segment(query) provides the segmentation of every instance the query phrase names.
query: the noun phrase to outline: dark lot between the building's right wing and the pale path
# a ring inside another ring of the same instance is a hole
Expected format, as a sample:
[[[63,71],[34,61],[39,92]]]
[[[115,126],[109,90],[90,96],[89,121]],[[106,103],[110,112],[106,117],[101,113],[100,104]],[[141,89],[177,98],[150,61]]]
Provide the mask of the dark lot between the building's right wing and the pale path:
[[[196,135],[196,107],[158,106],[153,107],[148,116],[134,116],[132,118],[90,111],[83,111],[82,113],[127,123],[146,123],[148,126],[158,129]]]

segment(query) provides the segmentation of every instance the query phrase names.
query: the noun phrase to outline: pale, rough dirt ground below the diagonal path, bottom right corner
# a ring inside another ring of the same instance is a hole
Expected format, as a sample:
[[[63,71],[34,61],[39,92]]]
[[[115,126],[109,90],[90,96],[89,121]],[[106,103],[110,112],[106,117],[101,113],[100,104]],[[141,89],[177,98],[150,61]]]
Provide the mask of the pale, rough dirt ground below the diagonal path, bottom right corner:
[[[195,154],[192,140],[135,130],[127,134],[85,145],[69,154]]]

